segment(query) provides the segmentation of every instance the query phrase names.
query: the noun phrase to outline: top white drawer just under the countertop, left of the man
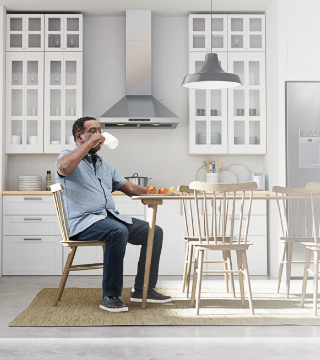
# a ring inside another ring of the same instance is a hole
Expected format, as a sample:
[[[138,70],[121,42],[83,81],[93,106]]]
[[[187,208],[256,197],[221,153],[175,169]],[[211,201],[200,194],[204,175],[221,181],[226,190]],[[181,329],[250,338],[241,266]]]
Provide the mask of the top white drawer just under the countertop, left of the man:
[[[4,215],[55,215],[52,196],[6,195],[3,196]]]

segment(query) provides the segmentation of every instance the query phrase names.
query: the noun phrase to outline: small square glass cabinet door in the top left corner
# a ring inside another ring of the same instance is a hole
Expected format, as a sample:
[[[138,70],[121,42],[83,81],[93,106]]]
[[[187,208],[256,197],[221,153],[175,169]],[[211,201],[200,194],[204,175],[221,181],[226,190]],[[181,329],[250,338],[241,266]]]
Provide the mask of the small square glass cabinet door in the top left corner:
[[[44,15],[8,14],[7,51],[43,51]]]

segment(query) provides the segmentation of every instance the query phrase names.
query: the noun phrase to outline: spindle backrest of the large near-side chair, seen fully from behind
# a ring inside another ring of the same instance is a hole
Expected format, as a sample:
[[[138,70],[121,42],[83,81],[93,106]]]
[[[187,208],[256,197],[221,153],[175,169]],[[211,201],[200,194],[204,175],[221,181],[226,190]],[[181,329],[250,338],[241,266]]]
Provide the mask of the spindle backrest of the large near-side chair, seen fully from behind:
[[[202,244],[205,241],[207,244],[210,241],[210,238],[214,239],[214,243],[217,244],[218,238],[222,240],[222,243],[225,244],[226,238],[230,237],[230,242],[233,241],[233,235],[236,231],[235,229],[235,212],[236,212],[236,201],[241,200],[240,209],[238,212],[239,215],[239,227],[238,227],[238,236],[237,243],[240,244],[241,232],[242,232],[242,223],[244,220],[244,208],[245,202],[248,202],[248,212],[247,212],[247,223],[244,234],[244,243],[247,242],[248,229],[250,222],[251,214],[251,204],[253,190],[257,189],[257,184],[255,182],[247,183],[238,183],[238,184],[210,184],[199,181],[194,181],[189,185],[189,189],[193,190],[193,196],[195,198],[196,205],[196,215],[197,215],[197,224],[198,224],[198,237],[199,242]],[[246,191],[249,191],[249,194],[246,196]],[[227,196],[231,197],[232,203],[232,213],[230,219],[230,235],[227,236],[227,219],[228,219],[228,205],[229,199]],[[201,219],[199,212],[199,202],[203,199],[204,204],[204,231],[203,235],[201,233]],[[207,201],[211,201],[211,226],[209,226],[209,212]],[[218,212],[217,212],[217,202],[219,202]],[[220,222],[220,219],[222,221]],[[220,235],[221,231],[221,235]]]

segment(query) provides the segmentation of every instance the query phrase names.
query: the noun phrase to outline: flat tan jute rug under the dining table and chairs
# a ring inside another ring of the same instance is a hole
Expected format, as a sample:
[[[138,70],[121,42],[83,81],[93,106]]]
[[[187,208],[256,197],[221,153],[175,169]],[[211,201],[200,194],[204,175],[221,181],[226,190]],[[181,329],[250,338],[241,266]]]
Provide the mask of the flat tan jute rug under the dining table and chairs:
[[[130,302],[131,289],[123,289],[122,301],[129,312],[110,313],[99,308],[101,289],[66,288],[58,306],[53,306],[57,289],[41,290],[30,306],[9,326],[115,326],[115,325],[320,325],[320,316],[312,316],[311,289],[305,307],[300,308],[300,293],[292,291],[286,299],[284,289],[276,294],[273,288],[253,288],[255,315],[251,315],[248,301],[241,306],[239,289],[237,298],[225,289],[203,288],[200,315],[190,308],[190,298],[181,288],[157,288],[170,294],[167,304]],[[320,313],[320,309],[319,309]]]

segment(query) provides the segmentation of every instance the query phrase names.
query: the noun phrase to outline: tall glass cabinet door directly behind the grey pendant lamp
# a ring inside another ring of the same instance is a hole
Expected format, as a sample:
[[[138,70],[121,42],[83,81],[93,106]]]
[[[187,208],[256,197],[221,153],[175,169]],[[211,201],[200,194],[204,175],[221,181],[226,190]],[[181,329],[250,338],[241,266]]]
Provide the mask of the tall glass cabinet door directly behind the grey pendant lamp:
[[[227,71],[227,53],[217,53],[223,70]],[[198,72],[206,53],[189,55],[189,72]],[[228,152],[227,89],[189,89],[189,153],[226,154]]]

